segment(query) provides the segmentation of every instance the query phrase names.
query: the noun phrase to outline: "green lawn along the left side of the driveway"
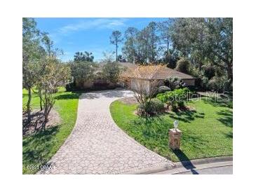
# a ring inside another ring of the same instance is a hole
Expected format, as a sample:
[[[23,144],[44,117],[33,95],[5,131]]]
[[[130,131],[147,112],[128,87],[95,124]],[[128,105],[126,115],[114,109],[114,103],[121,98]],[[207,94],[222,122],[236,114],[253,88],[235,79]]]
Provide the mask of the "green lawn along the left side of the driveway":
[[[45,164],[65,142],[76,123],[79,92],[65,92],[65,88],[59,88],[55,94],[55,110],[60,114],[62,123],[59,126],[48,128],[46,131],[23,137],[22,142],[22,172],[34,174],[37,169],[31,166]],[[27,102],[27,90],[22,91],[23,105]],[[32,96],[32,109],[39,108],[39,97]]]

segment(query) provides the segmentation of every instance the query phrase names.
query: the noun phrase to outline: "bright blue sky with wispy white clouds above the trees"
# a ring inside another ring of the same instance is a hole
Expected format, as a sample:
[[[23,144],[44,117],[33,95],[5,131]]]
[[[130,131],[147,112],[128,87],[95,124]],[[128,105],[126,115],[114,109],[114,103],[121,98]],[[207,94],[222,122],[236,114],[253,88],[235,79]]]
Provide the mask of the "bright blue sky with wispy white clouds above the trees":
[[[163,21],[166,18],[36,18],[37,27],[48,32],[55,48],[61,48],[62,61],[72,60],[77,51],[92,52],[95,61],[102,59],[103,51],[114,51],[109,43],[113,30],[122,34],[128,27],[142,29],[149,22]],[[121,54],[121,46],[118,50]]]

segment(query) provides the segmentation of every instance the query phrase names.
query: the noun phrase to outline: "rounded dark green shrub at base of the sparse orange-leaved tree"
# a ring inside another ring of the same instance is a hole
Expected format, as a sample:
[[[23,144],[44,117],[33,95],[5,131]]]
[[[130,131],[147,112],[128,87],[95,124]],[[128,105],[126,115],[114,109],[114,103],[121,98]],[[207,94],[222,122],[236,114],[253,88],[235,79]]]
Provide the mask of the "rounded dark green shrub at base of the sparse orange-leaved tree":
[[[141,116],[152,116],[163,111],[164,104],[158,99],[152,99],[150,102],[139,104],[137,111]]]

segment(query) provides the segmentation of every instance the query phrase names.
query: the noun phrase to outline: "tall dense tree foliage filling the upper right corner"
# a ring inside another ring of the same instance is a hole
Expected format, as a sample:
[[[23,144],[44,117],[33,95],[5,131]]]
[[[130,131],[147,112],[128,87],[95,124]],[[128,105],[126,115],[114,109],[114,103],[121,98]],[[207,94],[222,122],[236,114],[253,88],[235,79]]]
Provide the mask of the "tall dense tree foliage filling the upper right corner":
[[[199,71],[204,64],[224,65],[229,84],[233,80],[233,19],[177,18],[172,27],[173,47],[189,58]],[[211,72],[208,75],[213,77]]]

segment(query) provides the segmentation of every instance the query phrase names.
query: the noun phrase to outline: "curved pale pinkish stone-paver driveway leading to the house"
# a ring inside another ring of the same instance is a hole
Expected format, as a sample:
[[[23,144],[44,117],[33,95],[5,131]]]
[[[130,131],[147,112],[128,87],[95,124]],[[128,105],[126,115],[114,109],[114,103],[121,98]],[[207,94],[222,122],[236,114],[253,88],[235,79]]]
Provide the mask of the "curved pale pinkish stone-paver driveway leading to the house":
[[[171,164],[128,137],[112,120],[109,105],[131,96],[128,90],[83,93],[74,130],[48,162],[53,169],[38,174],[120,174]]]

